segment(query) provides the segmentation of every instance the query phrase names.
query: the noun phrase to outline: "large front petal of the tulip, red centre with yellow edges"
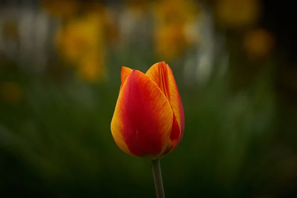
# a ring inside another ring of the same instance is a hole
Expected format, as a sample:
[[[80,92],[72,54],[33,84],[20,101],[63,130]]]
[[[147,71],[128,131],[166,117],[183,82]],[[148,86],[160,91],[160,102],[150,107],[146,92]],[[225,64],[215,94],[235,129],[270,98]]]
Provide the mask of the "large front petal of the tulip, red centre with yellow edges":
[[[133,70],[120,91],[111,121],[116,144],[134,156],[156,159],[167,148],[173,112],[158,86]]]

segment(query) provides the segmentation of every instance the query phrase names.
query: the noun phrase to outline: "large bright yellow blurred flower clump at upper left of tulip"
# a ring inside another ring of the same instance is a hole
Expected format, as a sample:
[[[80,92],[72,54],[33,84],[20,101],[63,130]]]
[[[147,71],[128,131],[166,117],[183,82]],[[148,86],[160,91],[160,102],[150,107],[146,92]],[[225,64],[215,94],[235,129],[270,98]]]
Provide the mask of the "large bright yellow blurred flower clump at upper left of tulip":
[[[71,20],[56,33],[62,56],[77,66],[78,76],[90,82],[98,80],[105,71],[104,30],[104,15],[92,11]]]

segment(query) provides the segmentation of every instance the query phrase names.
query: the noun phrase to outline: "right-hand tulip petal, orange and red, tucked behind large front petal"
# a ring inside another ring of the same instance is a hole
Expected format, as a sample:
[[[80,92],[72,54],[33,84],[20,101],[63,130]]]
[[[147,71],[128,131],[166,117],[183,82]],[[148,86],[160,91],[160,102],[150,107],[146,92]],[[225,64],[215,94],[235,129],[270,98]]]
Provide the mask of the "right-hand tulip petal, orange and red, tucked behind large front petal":
[[[184,109],[182,100],[170,67],[163,61],[152,65],[146,75],[148,75],[162,90],[168,99],[176,120],[173,120],[172,132],[168,148],[164,154],[170,152],[180,143],[185,129]]]

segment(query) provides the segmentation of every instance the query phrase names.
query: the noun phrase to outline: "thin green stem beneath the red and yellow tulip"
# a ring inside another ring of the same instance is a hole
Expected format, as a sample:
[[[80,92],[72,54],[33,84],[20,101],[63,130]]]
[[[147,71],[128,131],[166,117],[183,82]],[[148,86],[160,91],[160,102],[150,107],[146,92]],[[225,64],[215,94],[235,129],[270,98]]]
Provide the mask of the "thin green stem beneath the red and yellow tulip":
[[[153,174],[153,180],[155,183],[157,198],[165,198],[160,159],[151,160],[151,167],[152,167],[152,174]]]

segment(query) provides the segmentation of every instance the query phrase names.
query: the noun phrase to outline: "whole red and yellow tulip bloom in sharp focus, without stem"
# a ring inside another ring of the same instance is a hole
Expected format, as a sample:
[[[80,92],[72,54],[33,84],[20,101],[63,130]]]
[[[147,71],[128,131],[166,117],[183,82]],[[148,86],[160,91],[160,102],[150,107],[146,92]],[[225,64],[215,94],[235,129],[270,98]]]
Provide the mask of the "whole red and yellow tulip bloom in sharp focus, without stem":
[[[147,73],[122,67],[111,121],[119,148],[133,156],[159,159],[179,145],[184,128],[183,104],[169,65],[156,63]]]

